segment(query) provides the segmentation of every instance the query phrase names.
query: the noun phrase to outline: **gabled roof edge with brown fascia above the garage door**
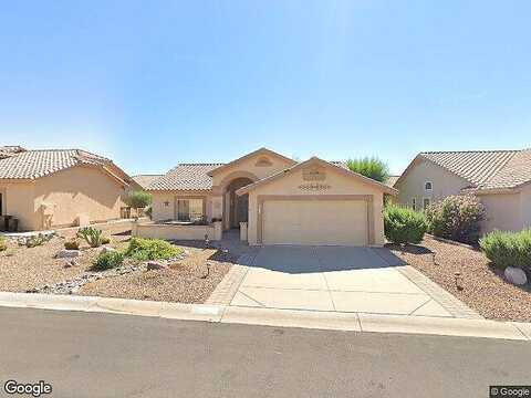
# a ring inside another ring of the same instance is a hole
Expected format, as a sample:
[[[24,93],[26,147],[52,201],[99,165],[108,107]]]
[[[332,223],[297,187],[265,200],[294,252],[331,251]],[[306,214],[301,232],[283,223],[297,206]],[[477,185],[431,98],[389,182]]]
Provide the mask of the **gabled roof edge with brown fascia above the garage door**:
[[[335,164],[329,163],[326,160],[320,159],[317,157],[312,157],[312,158],[310,158],[310,159],[308,159],[303,163],[296,164],[296,165],[294,165],[294,166],[292,166],[292,167],[290,167],[285,170],[277,172],[277,174],[274,174],[270,177],[266,177],[266,178],[263,178],[261,180],[258,180],[253,184],[250,184],[246,187],[242,187],[242,188],[238,189],[236,191],[236,193],[237,195],[248,193],[249,191],[251,191],[251,190],[253,190],[258,187],[261,187],[261,186],[264,186],[267,184],[273,182],[273,181],[275,181],[280,178],[292,175],[296,170],[304,169],[304,168],[313,166],[313,165],[330,168],[330,169],[336,171],[337,174],[344,175],[346,177],[356,179],[357,181],[362,181],[362,182],[371,185],[375,188],[378,188],[379,190],[384,191],[385,193],[389,193],[389,195],[397,195],[398,193],[398,191],[396,189],[391,188],[391,187],[386,186],[385,184],[378,182],[378,181],[376,181],[372,178],[368,178],[368,177],[362,176],[361,174],[351,171],[350,169],[346,169],[346,168],[342,167],[341,165],[335,165]]]

